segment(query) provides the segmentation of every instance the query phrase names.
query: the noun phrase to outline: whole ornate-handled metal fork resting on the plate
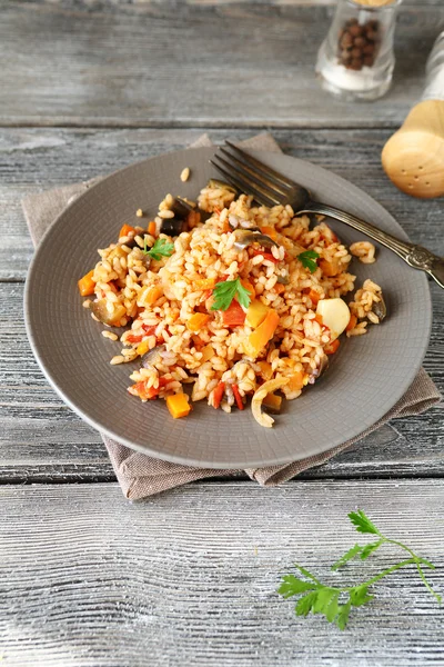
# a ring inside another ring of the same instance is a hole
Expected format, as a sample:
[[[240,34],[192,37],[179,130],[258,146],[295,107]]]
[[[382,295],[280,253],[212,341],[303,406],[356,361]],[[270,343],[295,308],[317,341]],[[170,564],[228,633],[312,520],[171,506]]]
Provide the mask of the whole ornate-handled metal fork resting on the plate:
[[[444,288],[444,260],[441,257],[433,255],[422,246],[402,241],[356,216],[341,211],[333,206],[313,201],[309,190],[302,186],[256,160],[231,141],[225,141],[225,143],[232,152],[225,148],[219,148],[214,159],[210,162],[229,183],[246,195],[252,195],[258,203],[268,207],[290,203],[295,215],[321,213],[345,222],[396,252],[408,266],[425,271],[440,287]],[[219,152],[224,157],[221,157]]]

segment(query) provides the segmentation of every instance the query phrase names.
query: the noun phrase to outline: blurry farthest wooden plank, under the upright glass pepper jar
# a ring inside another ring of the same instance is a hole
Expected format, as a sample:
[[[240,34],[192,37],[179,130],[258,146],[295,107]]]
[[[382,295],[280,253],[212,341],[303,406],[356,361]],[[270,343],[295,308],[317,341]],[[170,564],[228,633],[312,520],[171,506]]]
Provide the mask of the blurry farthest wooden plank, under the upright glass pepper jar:
[[[0,123],[398,125],[423,89],[442,6],[404,3],[394,87],[356,107],[332,100],[314,77],[327,4],[3,2]]]

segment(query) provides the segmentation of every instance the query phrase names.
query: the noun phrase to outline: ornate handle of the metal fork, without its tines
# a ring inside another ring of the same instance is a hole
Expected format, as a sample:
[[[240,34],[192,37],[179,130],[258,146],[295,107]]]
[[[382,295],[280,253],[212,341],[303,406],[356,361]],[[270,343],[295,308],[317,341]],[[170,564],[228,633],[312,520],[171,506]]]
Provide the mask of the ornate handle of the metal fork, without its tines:
[[[345,222],[345,225],[362,231],[371,239],[382,243],[389,248],[389,250],[396,252],[396,255],[407,262],[408,266],[428,273],[438,283],[438,286],[444,289],[444,260],[441,257],[433,255],[433,252],[426,248],[416,246],[415,243],[401,241],[391,233],[386,233],[385,231],[382,231],[382,229],[377,229],[377,227],[374,227],[370,222],[365,222],[364,220],[361,220],[361,218],[352,216],[345,211],[341,211],[333,206],[310,201],[306,205],[306,208],[297,211],[297,215],[299,213],[320,213],[322,216],[335,218],[341,222]]]

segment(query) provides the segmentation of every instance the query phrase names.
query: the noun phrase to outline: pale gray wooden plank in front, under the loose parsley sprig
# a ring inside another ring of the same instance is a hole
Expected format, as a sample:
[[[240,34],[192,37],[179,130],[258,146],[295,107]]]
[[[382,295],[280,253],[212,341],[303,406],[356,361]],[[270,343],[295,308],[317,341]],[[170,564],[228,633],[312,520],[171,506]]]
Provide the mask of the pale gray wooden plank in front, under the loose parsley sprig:
[[[444,607],[414,568],[375,587],[344,633],[319,616],[296,618],[275,590],[294,560],[350,585],[402,559],[383,547],[332,575],[357,539],[346,519],[356,507],[438,565],[443,492],[434,479],[273,490],[204,482],[130,505],[114,484],[2,487],[2,658],[46,667],[442,664]],[[427,577],[442,593],[442,568]]]

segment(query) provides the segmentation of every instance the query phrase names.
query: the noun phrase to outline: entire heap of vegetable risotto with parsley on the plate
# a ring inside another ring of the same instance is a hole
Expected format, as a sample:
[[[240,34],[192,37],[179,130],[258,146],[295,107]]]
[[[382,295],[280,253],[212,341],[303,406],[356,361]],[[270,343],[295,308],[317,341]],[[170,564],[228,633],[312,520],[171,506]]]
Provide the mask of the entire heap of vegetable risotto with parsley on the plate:
[[[120,340],[110,362],[133,362],[135,398],[165,399],[175,418],[194,401],[231,412],[251,398],[256,421],[271,427],[268,412],[319,379],[341,334],[382,320],[381,288],[365,280],[347,306],[351,251],[322,219],[311,227],[290,206],[255,206],[219,181],[198,203],[182,201],[186,215],[175,205],[168,195],[148,226],[123,225],[99,250],[79,281],[83,305],[105,338]],[[372,243],[351,248],[374,261]]]

